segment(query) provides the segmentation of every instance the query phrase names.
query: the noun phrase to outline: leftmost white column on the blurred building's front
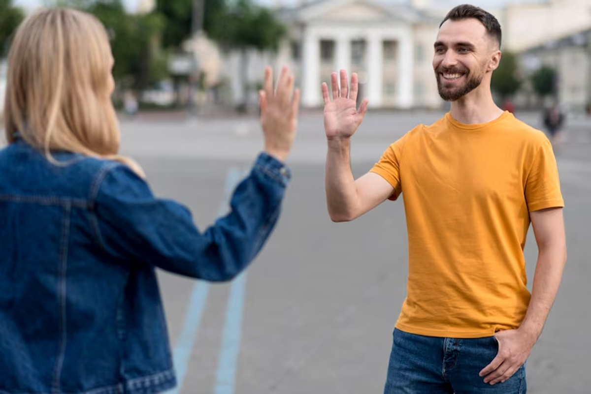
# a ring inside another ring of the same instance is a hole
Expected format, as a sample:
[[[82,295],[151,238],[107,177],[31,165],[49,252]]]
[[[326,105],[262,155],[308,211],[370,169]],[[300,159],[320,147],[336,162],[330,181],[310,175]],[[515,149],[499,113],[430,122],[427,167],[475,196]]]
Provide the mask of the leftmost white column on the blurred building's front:
[[[303,76],[301,103],[305,107],[317,107],[322,103],[320,97],[320,42],[317,37],[306,32],[301,63]]]

